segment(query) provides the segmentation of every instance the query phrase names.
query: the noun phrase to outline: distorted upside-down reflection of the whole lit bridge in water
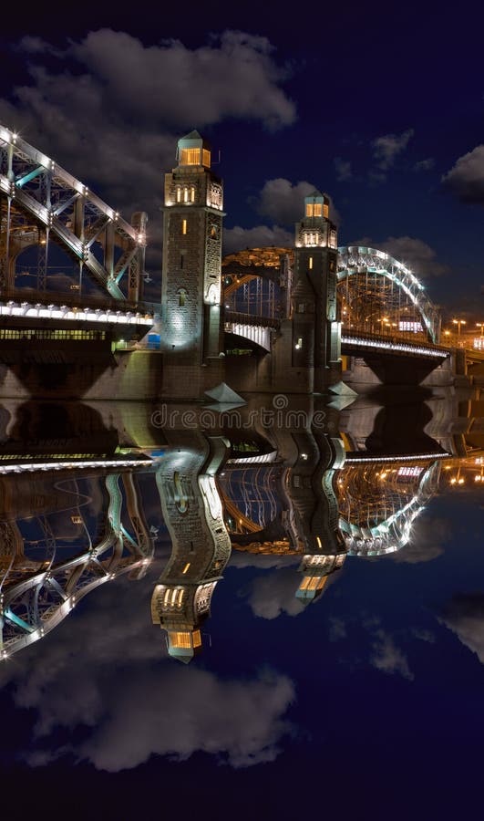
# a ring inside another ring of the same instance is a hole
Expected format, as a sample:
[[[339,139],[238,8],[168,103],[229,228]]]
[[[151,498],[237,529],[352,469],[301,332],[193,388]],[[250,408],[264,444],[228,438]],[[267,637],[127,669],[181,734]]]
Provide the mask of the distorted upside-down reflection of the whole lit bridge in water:
[[[356,413],[354,430],[346,410],[340,433],[334,408],[297,402],[290,425],[281,415],[254,414],[252,406],[242,423],[237,411],[237,429],[230,412],[212,413],[218,427],[206,432],[176,425],[153,431],[149,417],[139,416],[129,432],[129,410],[118,420],[109,416],[108,427],[106,413],[89,412],[82,448],[67,438],[54,448],[52,425],[47,440],[38,425],[32,436],[32,420],[44,418],[45,409],[21,407],[0,463],[2,657],[41,639],[101,584],[121,574],[142,577],[162,524],[170,558],[153,590],[151,616],[166,631],[170,656],[188,662],[201,650],[202,626],[232,550],[254,561],[293,556],[300,574],[293,596],[307,605],[347,556],[381,556],[411,543],[412,525],[433,495],[466,478],[484,483],[475,447],[458,457],[417,427],[415,441],[425,452],[412,452],[406,435],[398,453],[399,442],[383,435],[385,409],[366,414],[365,423]],[[82,408],[70,412],[82,418]],[[396,415],[395,407],[386,413],[393,430]],[[416,412],[414,424],[417,418],[428,427],[427,411]],[[30,431],[28,457],[15,447],[19,425]],[[104,430],[108,450],[99,447]]]

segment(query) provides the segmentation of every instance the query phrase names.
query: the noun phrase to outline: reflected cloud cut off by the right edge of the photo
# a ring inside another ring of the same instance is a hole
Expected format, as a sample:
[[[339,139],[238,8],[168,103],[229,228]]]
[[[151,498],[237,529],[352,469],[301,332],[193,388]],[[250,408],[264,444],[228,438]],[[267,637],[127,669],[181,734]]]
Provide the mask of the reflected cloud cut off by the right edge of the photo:
[[[440,614],[439,621],[484,664],[484,593],[458,593]]]

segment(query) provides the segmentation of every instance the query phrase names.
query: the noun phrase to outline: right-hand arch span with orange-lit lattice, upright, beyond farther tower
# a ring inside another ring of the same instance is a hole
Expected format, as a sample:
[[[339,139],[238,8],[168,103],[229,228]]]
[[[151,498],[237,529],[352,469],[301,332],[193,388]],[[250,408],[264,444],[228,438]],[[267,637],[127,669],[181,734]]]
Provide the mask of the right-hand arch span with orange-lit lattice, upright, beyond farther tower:
[[[438,308],[406,265],[376,248],[351,245],[338,252],[344,333],[439,342]]]

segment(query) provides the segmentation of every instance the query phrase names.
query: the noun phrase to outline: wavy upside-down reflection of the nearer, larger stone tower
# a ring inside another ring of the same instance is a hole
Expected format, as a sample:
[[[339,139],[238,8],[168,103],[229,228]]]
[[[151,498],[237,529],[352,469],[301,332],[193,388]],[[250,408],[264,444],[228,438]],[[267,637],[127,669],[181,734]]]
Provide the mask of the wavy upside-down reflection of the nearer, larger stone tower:
[[[163,458],[157,474],[171,556],[151,599],[155,624],[168,632],[170,656],[188,663],[201,650],[201,623],[231,555],[215,474],[225,440],[213,437],[210,453],[187,447]]]

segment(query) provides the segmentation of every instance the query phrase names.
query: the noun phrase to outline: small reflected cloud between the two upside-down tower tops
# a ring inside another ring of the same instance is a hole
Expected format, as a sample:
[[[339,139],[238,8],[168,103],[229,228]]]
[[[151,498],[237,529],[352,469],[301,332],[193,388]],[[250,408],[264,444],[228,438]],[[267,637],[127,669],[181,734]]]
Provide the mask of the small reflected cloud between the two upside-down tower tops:
[[[277,618],[282,613],[297,616],[304,610],[304,604],[295,593],[300,577],[293,570],[283,569],[252,581],[247,599],[254,616]]]

